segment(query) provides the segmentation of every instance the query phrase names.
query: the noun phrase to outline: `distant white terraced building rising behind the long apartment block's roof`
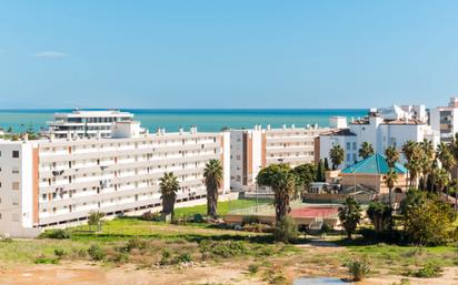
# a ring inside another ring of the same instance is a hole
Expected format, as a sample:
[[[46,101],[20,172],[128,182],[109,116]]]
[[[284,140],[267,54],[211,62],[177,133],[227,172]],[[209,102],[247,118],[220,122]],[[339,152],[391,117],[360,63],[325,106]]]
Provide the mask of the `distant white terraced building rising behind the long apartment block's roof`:
[[[133,120],[132,113],[113,110],[74,110],[71,113],[56,113],[53,116],[54,120],[48,122],[49,130],[44,132],[44,135],[53,135],[57,139],[67,139],[68,136],[110,138],[113,123]]]

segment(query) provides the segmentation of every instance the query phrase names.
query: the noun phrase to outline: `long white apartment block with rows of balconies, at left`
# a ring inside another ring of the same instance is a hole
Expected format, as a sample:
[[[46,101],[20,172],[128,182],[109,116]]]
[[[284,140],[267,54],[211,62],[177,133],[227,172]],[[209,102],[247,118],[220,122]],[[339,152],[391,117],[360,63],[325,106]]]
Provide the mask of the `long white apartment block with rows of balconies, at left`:
[[[0,234],[34,236],[40,228],[161,205],[159,179],[180,182],[177,203],[203,199],[205,164],[223,165],[230,187],[229,132],[139,134],[117,123],[112,139],[0,141]],[[202,200],[203,202],[203,200]]]

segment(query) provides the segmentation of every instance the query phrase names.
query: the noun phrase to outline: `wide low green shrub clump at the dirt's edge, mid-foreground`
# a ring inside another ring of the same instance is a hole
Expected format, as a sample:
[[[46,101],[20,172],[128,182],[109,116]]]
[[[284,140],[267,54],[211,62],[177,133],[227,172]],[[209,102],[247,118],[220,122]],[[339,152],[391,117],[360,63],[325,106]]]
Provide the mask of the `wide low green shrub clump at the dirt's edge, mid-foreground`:
[[[229,258],[248,254],[248,247],[243,242],[202,241],[200,242],[199,247],[202,254],[208,253],[213,257]]]

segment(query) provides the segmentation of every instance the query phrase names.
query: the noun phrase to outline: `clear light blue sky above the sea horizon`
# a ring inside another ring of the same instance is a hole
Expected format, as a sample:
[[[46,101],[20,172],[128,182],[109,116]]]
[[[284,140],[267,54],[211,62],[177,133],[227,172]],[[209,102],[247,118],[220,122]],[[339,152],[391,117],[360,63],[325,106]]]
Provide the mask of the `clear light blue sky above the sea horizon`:
[[[457,14],[440,0],[0,0],[0,109],[445,105]]]

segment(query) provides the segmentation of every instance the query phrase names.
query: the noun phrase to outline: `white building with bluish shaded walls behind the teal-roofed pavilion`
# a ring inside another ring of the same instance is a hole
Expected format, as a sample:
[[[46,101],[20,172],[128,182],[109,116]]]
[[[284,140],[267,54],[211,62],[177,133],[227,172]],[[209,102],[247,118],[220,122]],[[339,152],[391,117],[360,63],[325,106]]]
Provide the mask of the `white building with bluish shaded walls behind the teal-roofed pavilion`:
[[[344,169],[360,160],[358,150],[364,142],[370,143],[375,152],[384,153],[388,146],[394,145],[400,150],[407,141],[422,142],[425,139],[432,141],[435,145],[439,143],[438,132],[435,132],[426,121],[410,116],[384,118],[378,111],[371,110],[367,118],[354,120],[348,128],[321,134],[319,152],[320,159],[328,159],[330,162],[330,149],[340,144],[345,150],[345,161],[339,169]]]

